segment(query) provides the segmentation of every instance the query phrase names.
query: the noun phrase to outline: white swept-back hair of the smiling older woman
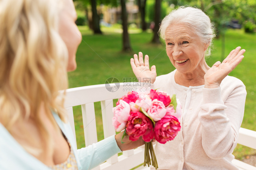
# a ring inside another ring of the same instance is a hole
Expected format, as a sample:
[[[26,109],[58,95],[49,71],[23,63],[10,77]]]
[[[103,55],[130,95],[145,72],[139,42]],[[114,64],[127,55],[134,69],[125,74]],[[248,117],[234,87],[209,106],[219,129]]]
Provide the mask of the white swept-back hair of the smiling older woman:
[[[199,8],[181,6],[172,10],[162,20],[159,29],[160,37],[164,40],[166,28],[179,23],[190,28],[199,37],[203,45],[209,44],[205,55],[210,55],[212,39],[215,37],[215,28],[210,18]]]

